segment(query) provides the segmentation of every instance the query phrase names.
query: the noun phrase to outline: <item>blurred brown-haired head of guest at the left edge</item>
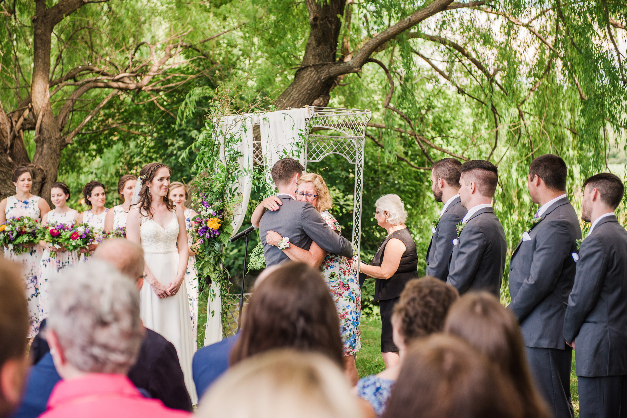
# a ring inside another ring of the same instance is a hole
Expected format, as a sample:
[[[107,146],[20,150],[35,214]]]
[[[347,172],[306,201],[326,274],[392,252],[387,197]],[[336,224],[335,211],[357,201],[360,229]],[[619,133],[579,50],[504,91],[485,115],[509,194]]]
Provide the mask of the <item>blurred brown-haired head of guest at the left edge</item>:
[[[18,404],[26,377],[28,306],[16,263],[0,258],[0,418]]]

